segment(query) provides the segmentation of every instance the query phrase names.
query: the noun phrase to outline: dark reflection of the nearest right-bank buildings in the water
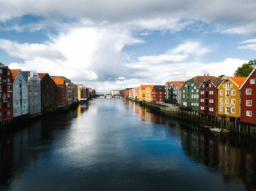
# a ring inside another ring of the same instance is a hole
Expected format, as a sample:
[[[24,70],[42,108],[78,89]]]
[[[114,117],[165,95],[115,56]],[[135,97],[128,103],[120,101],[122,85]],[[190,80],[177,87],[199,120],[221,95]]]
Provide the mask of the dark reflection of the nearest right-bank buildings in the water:
[[[243,181],[245,187],[256,189],[256,151],[233,147],[212,135],[190,130],[181,131],[181,145],[187,156],[218,170],[225,182]]]

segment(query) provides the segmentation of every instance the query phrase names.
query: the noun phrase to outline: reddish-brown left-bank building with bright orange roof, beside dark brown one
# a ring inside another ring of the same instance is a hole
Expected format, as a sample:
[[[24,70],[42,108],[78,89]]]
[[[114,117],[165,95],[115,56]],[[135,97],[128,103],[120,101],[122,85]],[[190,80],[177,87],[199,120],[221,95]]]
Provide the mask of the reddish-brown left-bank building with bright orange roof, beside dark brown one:
[[[67,104],[67,87],[66,82],[61,77],[50,77],[57,86],[57,106],[64,106]]]

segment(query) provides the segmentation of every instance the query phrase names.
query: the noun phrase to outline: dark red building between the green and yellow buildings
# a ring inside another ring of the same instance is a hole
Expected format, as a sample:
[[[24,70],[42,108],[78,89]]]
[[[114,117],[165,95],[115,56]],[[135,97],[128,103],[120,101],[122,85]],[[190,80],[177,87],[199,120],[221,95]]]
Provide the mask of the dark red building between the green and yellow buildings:
[[[222,83],[221,77],[212,77],[203,82],[199,87],[199,113],[212,117],[217,116],[218,112],[218,89]]]

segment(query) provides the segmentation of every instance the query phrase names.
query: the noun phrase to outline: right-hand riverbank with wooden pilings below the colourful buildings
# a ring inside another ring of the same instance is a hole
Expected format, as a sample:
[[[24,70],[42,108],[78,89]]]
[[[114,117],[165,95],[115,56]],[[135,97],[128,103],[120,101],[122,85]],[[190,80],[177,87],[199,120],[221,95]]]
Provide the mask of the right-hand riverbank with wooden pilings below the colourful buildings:
[[[230,130],[231,133],[250,136],[256,139],[256,126],[242,123],[236,118],[226,120],[227,117],[224,116],[211,117],[199,114],[199,112],[197,111],[181,110],[180,108],[178,108],[178,106],[172,106],[170,104],[149,103],[146,101],[134,100],[132,98],[127,99],[135,101],[136,103],[140,104],[140,106],[145,106],[151,111],[157,112],[158,114],[162,114],[167,117],[175,117],[177,119],[198,122],[200,125],[207,125],[216,128],[225,128]]]

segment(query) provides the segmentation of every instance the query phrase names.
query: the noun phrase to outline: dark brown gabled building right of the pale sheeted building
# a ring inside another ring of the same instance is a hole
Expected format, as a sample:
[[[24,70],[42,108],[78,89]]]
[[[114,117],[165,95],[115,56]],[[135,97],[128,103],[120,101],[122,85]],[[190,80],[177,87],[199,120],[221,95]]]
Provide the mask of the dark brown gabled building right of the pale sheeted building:
[[[48,73],[38,73],[41,83],[41,109],[42,112],[50,112],[56,109],[57,87]]]

